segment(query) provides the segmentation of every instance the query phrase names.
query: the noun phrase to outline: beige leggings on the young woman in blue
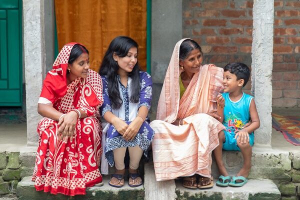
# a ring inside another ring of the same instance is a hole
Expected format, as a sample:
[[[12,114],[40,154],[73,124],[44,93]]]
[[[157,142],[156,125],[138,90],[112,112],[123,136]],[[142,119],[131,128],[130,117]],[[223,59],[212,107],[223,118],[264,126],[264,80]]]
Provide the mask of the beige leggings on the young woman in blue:
[[[116,148],[116,149],[113,149],[112,151],[113,151],[113,159],[114,159],[115,168],[117,170],[124,169],[125,168],[124,157],[125,157],[125,153],[126,153],[126,147]],[[138,145],[136,145],[134,147],[128,147],[128,151],[129,151],[129,157],[130,157],[129,168],[137,169],[139,160],[143,153],[143,150]]]

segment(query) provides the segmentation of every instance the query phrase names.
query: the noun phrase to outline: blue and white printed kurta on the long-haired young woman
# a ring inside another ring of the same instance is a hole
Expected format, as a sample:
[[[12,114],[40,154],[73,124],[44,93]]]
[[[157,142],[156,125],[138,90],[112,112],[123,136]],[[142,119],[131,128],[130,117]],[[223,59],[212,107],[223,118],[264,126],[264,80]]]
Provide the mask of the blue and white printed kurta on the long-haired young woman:
[[[103,99],[104,102],[100,108],[100,111],[102,113],[102,116],[104,116],[104,113],[107,111],[113,112],[111,109],[111,102],[108,96],[108,87],[107,87],[107,77],[102,77],[102,83],[103,83]],[[121,90],[121,98],[123,100],[123,105],[125,108],[124,116],[119,116],[120,118],[123,118],[124,121],[129,124],[131,121],[129,121],[129,113],[131,111],[135,110],[129,110],[129,86],[128,84],[126,87],[121,84],[120,77],[117,75],[118,84],[120,86]],[[151,98],[152,98],[152,79],[151,76],[147,72],[140,71],[139,72],[139,79],[140,79],[140,93],[139,93],[139,102],[137,103],[139,108],[140,106],[146,106],[148,110],[151,106]],[[137,111],[137,110],[136,110]],[[126,141],[123,139],[122,135],[117,132],[117,130],[114,128],[112,124],[109,124],[106,132],[106,140],[105,140],[105,147],[104,147],[104,153],[105,157],[109,163],[110,166],[113,166],[113,149],[120,148],[120,147],[133,147],[135,145],[139,145],[141,149],[144,150],[144,155],[147,156],[147,148],[151,144],[151,141],[154,136],[153,129],[149,126],[149,119],[146,118],[146,120],[142,123],[140,126],[136,136],[132,141]]]

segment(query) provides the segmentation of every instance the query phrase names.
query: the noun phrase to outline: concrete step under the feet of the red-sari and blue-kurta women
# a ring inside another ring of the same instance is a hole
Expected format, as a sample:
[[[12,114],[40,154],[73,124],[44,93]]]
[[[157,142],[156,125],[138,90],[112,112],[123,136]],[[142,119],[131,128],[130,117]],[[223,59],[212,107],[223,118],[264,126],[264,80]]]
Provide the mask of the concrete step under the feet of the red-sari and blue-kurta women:
[[[129,187],[127,181],[125,180],[125,185],[121,188],[116,188],[108,185],[108,180],[110,176],[103,176],[104,185],[101,187],[89,187],[86,189],[85,195],[77,196],[65,196],[62,194],[53,195],[50,193],[45,193],[43,191],[36,191],[34,188],[34,182],[31,181],[31,176],[24,177],[16,187],[16,196],[18,200],[68,200],[68,199],[144,199],[144,187],[143,185],[138,187]]]

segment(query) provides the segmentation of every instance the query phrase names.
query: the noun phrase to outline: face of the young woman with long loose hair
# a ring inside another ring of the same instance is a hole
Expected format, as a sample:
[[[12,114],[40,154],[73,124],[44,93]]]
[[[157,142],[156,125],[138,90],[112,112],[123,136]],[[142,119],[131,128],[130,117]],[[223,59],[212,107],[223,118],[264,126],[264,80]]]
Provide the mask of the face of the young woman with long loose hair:
[[[113,59],[117,61],[119,66],[118,74],[122,72],[130,73],[137,62],[137,48],[129,48],[127,55],[120,57],[116,54],[113,55]]]

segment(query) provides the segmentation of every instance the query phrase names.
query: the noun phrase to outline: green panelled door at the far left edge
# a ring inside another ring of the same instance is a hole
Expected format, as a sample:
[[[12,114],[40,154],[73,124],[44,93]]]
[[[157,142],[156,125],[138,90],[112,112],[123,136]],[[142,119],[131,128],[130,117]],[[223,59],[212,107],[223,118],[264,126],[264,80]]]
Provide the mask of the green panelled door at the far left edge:
[[[21,0],[0,0],[0,106],[22,105]]]

